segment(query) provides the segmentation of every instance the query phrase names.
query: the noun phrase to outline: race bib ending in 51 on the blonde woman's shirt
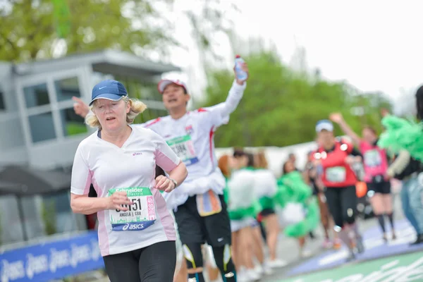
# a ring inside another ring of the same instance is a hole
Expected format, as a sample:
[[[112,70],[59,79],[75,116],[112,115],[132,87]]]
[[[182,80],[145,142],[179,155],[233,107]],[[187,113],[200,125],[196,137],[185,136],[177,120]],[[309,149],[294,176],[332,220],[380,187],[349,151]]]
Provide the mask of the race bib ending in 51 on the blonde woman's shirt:
[[[109,197],[114,192],[126,192],[131,205],[124,204],[128,211],[119,209],[109,211],[111,229],[113,231],[139,231],[152,226],[156,221],[156,206],[152,191],[145,187],[116,188],[109,190]]]

